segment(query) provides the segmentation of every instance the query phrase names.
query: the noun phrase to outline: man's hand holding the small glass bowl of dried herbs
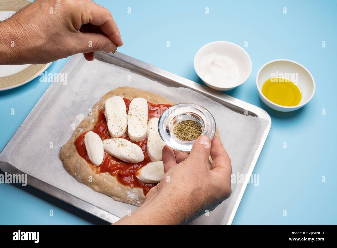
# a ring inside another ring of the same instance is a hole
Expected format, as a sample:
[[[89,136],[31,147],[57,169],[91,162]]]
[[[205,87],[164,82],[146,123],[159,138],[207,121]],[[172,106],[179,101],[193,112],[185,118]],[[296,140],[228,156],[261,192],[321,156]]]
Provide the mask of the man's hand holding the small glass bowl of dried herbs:
[[[231,195],[231,160],[218,136],[212,142],[200,136],[189,155],[164,146],[162,158],[165,175],[160,183],[139,209],[116,224],[188,223]]]

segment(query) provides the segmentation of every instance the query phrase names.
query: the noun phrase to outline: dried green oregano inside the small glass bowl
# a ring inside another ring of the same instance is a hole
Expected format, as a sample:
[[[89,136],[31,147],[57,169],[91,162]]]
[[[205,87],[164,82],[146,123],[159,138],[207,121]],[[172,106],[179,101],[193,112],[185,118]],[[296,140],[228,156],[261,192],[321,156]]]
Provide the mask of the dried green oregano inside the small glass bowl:
[[[182,140],[196,139],[202,134],[202,132],[203,130],[201,129],[200,125],[194,120],[180,121],[173,128],[174,135]]]

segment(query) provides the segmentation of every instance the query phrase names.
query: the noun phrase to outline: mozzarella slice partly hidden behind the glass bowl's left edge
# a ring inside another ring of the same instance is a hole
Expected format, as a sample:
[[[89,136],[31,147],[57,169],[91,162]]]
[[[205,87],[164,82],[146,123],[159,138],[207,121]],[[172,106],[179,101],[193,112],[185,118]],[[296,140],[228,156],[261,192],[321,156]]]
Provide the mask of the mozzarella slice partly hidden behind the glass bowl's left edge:
[[[159,118],[154,117],[148,123],[147,153],[152,162],[162,160],[161,151],[165,145],[158,133],[158,121]]]

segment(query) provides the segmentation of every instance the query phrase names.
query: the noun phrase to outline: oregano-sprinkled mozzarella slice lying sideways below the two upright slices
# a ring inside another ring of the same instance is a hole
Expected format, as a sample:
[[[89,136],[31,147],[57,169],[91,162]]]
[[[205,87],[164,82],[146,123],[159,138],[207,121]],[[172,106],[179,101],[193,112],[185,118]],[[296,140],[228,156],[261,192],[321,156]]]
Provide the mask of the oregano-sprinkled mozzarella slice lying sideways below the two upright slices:
[[[111,156],[129,163],[139,163],[144,160],[144,153],[141,147],[121,138],[103,140],[104,150]]]

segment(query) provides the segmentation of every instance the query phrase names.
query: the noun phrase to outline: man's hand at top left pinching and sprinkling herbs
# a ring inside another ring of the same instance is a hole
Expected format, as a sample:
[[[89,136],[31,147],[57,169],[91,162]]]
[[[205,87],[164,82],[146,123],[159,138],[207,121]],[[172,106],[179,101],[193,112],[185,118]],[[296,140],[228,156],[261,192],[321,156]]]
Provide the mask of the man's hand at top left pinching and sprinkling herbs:
[[[43,64],[76,53],[92,61],[123,42],[110,11],[91,0],[35,0],[0,22],[0,44],[0,64]]]

